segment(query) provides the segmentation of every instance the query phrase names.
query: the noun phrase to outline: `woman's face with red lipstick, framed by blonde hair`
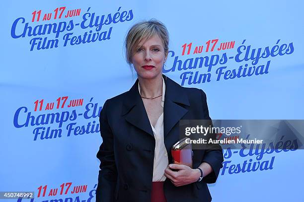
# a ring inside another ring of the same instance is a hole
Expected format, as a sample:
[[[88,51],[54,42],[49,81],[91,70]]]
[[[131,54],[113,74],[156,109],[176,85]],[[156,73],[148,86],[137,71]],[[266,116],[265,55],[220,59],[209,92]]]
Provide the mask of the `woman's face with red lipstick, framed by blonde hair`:
[[[163,42],[158,35],[154,35],[145,43],[138,44],[132,56],[132,64],[138,77],[153,79],[161,76],[166,59]]]

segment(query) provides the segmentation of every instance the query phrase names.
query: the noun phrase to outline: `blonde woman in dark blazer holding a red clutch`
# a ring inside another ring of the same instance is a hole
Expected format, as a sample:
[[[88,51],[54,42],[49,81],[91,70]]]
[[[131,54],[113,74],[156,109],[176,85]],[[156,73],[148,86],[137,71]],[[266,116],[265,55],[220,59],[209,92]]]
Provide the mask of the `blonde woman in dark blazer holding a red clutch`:
[[[194,150],[193,169],[172,162],[179,120],[210,117],[202,90],[162,74],[168,41],[166,27],[156,20],[137,23],[127,34],[126,59],[138,79],[100,113],[96,202],[211,201],[206,183],[216,182],[222,150]]]

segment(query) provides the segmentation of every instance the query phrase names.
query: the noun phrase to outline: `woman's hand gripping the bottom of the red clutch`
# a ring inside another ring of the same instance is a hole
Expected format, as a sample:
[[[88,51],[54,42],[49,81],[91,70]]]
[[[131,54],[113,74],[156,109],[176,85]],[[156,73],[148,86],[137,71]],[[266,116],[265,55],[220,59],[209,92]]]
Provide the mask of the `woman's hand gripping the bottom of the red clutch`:
[[[165,169],[164,176],[169,178],[175,187],[179,187],[196,182],[201,177],[201,172],[199,169],[192,169],[186,165],[170,164]]]

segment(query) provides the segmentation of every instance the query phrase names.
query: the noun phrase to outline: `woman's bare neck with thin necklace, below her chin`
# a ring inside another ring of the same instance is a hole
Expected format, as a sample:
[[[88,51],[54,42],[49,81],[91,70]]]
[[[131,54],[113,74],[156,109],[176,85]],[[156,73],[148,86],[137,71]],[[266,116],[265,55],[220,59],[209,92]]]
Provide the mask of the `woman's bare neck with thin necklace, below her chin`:
[[[162,93],[162,74],[153,79],[138,78],[141,89],[141,96],[156,97]]]

